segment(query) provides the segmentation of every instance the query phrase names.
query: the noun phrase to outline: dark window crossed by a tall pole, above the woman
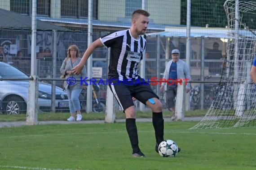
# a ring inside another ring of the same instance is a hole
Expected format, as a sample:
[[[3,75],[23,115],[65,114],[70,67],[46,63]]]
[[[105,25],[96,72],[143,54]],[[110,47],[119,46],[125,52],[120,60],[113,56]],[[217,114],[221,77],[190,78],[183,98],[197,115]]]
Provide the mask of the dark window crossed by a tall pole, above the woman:
[[[97,18],[97,0],[93,0],[93,18]],[[88,17],[88,0],[62,0],[62,17]]]

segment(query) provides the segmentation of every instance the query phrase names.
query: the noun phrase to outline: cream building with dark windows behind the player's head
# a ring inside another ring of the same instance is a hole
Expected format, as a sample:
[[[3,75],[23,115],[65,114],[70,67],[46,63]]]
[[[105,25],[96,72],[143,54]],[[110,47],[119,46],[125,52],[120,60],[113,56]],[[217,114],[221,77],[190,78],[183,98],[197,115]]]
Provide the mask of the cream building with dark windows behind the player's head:
[[[180,0],[147,0],[142,4],[143,2],[93,0],[93,32],[109,32],[130,27],[132,12],[141,9],[143,5],[151,14],[148,32],[159,32],[163,31],[165,26],[180,25]],[[172,7],[168,4],[172,4]],[[32,0],[4,0],[0,2],[0,8],[31,16]],[[88,0],[37,0],[37,18],[57,26],[65,26],[70,30],[87,31]]]

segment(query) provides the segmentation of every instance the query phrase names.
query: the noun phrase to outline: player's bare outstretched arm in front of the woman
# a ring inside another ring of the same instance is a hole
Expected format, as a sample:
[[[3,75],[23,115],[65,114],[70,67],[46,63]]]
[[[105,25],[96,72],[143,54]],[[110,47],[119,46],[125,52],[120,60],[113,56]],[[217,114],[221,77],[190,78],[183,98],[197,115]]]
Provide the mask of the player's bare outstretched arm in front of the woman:
[[[84,55],[83,55],[81,61],[79,62],[79,64],[77,64],[77,66],[72,68],[72,72],[75,73],[75,74],[80,74],[80,72],[83,69],[84,64],[86,63],[89,56],[91,56],[93,54],[93,51],[96,48],[102,47],[102,46],[104,46],[104,44],[102,44],[100,38],[98,38],[96,41],[91,43],[90,46],[87,48],[87,50],[84,52]]]

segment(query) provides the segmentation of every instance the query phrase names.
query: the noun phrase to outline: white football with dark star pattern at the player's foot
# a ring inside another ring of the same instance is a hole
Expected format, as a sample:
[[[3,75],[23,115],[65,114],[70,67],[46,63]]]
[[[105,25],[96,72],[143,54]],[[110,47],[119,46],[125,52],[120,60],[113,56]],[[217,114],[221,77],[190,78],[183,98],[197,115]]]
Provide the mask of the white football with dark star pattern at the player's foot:
[[[173,140],[163,140],[158,146],[161,157],[175,157],[178,153],[178,145]]]

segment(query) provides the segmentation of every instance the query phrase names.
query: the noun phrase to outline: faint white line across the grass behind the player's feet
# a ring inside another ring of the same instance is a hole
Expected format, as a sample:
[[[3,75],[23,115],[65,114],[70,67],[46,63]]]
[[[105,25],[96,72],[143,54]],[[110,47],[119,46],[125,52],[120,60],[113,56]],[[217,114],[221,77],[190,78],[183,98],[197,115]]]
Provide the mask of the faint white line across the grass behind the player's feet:
[[[138,131],[140,133],[153,133],[154,131]],[[71,136],[71,135],[91,135],[91,134],[104,134],[104,133],[127,133],[126,131],[115,132],[85,132],[85,133],[69,133],[69,134],[53,134],[54,136]],[[166,131],[164,133],[187,133],[187,134],[217,134],[217,135],[252,135],[256,136],[256,133],[228,133],[228,132],[187,132],[187,131]],[[53,135],[28,135],[28,136],[0,136],[0,139],[4,138],[21,138],[21,137],[47,137]]]

